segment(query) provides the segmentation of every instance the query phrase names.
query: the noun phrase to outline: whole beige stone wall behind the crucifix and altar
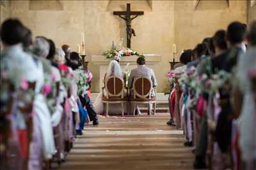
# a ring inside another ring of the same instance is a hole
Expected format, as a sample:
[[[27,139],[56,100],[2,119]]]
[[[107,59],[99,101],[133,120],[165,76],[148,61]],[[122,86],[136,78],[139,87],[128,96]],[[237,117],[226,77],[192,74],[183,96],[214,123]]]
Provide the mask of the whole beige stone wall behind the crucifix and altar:
[[[125,39],[125,22],[113,16],[113,10],[125,10],[125,4],[131,3],[131,10],[144,11],[132,21],[136,31],[132,48],[162,55],[163,61],[155,67],[159,92],[168,91],[165,74],[173,43],[180,53],[217,29],[226,29],[232,20],[246,22],[246,1],[203,1],[196,9],[194,1],[52,1],[51,8],[47,8],[49,1],[38,1],[41,5],[33,1],[11,1],[10,16],[19,17],[35,36],[49,37],[57,46],[68,44],[74,51],[84,32],[89,56],[100,55],[111,48],[112,41]],[[92,91],[99,92],[99,67],[92,63],[89,67],[94,76]]]

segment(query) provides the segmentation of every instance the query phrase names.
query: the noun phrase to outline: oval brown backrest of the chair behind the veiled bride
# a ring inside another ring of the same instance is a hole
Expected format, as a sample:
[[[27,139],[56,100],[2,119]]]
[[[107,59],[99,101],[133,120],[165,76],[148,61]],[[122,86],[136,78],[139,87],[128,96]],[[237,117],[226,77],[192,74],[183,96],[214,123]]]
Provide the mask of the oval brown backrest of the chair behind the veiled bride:
[[[124,97],[124,79],[116,76],[109,76],[105,81],[107,97]]]

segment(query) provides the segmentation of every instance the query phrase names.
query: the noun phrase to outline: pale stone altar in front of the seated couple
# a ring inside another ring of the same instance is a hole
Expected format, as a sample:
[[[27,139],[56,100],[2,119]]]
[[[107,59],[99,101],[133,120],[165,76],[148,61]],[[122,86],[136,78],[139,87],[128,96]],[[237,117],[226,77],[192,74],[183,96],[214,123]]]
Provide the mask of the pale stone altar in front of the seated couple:
[[[146,59],[146,66],[150,67],[152,69],[154,69],[156,64],[158,64],[162,60],[161,55],[156,55],[156,54],[143,54],[143,55],[145,56],[145,59]],[[129,71],[131,71],[131,69],[136,68],[137,67],[137,63],[136,63],[137,59],[138,59],[137,55],[122,57],[121,62],[120,62],[122,70],[125,71],[125,66],[127,66],[128,63],[129,63],[129,67],[128,67]],[[99,87],[102,87],[102,81],[104,78],[104,74],[108,70],[108,65],[109,65],[110,61],[111,61],[111,59],[106,59],[106,57],[104,55],[92,55],[91,56],[91,62],[93,64],[99,66],[99,71],[100,71],[100,81],[99,81],[100,86]]]

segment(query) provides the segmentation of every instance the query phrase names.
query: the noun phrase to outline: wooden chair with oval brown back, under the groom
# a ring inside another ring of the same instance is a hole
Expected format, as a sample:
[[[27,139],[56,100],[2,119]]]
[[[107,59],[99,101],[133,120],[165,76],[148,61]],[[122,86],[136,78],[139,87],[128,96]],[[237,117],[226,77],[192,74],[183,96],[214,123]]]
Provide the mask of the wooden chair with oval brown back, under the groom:
[[[135,115],[136,104],[148,104],[151,110],[151,104],[154,104],[154,115],[156,114],[156,97],[151,97],[151,92],[156,88],[152,87],[152,81],[146,76],[135,77],[132,84],[132,93],[130,102],[134,105],[133,115]]]

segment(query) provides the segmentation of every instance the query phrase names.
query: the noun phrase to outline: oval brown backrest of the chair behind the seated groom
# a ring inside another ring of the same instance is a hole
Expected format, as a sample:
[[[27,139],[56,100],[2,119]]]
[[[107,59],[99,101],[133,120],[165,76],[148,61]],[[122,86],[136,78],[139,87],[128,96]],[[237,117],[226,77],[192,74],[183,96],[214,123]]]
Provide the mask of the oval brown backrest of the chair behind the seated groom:
[[[134,77],[132,89],[134,92],[134,98],[138,97],[149,97],[152,90],[152,81],[147,76]]]

